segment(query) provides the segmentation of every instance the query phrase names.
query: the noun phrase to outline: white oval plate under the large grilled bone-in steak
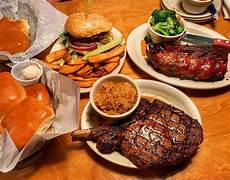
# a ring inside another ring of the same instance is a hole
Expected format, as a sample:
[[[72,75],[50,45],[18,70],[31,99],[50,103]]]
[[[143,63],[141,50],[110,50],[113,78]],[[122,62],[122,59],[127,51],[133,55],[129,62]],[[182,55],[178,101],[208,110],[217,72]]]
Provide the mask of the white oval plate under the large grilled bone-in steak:
[[[183,92],[170,85],[157,81],[140,79],[136,80],[136,82],[140,87],[142,96],[153,96],[167,103],[170,103],[175,107],[182,109],[194,119],[197,119],[201,124],[201,117],[197,107],[192,102],[192,100]],[[81,129],[94,127],[95,114],[90,113],[92,111],[92,107],[88,102],[82,113]],[[129,168],[137,168],[125,156],[121,155],[118,152],[102,154],[97,150],[95,142],[87,141],[87,144],[95,153],[110,162]]]

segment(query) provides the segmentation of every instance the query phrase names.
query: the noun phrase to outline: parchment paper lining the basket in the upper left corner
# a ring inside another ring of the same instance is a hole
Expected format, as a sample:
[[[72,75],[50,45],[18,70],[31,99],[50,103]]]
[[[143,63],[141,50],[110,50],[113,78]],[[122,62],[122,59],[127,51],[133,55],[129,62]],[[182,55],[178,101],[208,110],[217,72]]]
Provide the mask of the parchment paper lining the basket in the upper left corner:
[[[47,0],[0,0],[0,18],[27,19],[30,25],[31,46],[23,53],[10,55],[0,51],[0,59],[20,62],[34,57],[51,45],[64,31],[67,16]]]

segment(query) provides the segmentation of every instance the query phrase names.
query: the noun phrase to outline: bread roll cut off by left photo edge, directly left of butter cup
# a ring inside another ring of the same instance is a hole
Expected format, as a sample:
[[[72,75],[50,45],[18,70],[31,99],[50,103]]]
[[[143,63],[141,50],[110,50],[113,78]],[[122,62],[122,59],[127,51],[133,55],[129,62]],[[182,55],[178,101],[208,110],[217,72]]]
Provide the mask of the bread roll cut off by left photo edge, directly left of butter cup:
[[[9,72],[0,73],[0,119],[9,109],[25,98],[24,87]]]

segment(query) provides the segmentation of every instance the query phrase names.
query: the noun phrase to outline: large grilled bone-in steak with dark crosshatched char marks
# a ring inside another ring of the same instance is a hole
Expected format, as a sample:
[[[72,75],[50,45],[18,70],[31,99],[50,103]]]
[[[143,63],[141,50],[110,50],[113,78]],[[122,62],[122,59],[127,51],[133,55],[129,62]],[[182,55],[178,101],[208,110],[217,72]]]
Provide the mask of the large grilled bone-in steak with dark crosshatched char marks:
[[[119,151],[140,168],[167,167],[191,158],[203,141],[199,122],[160,100],[142,99],[122,124],[79,130],[73,140],[97,142],[101,153]]]

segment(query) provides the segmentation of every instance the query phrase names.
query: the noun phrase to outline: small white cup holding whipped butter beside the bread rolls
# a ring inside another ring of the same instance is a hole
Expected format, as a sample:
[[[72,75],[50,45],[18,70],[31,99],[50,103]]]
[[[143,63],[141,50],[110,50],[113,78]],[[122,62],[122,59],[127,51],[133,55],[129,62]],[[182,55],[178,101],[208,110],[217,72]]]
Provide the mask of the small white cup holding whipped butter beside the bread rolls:
[[[34,79],[30,79],[30,80],[23,79],[22,75],[21,75],[21,71],[25,67],[27,67],[31,64],[35,64],[40,69],[39,75]],[[13,78],[16,79],[18,82],[20,82],[23,86],[28,86],[28,85],[38,83],[42,74],[43,74],[42,66],[39,63],[37,63],[35,61],[31,61],[31,60],[19,62],[19,63],[15,64],[11,69],[11,75],[13,76]]]

